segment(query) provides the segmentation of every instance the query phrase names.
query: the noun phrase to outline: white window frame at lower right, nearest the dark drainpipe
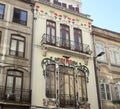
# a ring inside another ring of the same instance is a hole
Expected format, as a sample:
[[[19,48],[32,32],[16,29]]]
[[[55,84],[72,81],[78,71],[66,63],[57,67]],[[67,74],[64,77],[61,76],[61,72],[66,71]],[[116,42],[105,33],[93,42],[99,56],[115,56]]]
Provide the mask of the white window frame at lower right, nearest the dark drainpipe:
[[[111,85],[110,85],[110,82],[107,80],[107,79],[100,79],[100,95],[101,95],[101,100],[109,100],[111,101],[112,100],[112,94],[111,94]],[[102,91],[101,91],[101,85],[104,86],[104,93],[105,93],[105,98],[103,99],[102,98]],[[107,96],[107,87],[106,86],[109,86],[109,93],[110,93],[110,99],[108,99],[108,96]]]

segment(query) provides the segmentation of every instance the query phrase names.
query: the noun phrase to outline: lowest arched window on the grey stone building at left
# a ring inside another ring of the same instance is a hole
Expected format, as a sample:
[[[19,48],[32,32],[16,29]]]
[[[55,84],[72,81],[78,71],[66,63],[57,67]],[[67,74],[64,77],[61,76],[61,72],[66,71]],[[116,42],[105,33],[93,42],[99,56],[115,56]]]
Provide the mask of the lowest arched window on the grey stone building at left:
[[[6,96],[13,100],[15,95],[20,100],[22,90],[22,73],[15,70],[8,70],[6,81]]]

